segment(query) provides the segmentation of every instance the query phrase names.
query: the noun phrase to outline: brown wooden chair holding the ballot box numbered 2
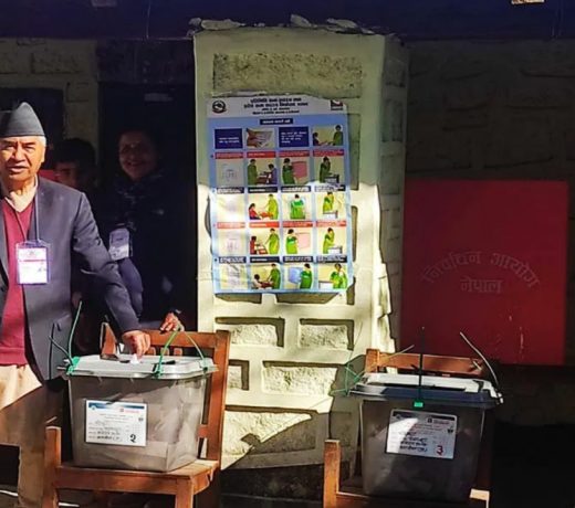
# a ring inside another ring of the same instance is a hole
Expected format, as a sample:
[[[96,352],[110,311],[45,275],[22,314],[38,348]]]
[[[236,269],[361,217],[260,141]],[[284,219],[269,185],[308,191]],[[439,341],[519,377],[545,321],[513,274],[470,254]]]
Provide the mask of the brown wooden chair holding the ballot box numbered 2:
[[[46,428],[45,437],[45,476],[42,508],[58,508],[59,489],[93,490],[104,500],[107,493],[169,494],[175,496],[175,508],[191,508],[194,496],[201,493],[201,508],[216,508],[220,498],[221,444],[223,431],[223,411],[228,378],[228,357],[230,339],[228,331],[215,334],[188,332],[198,347],[213,359],[218,371],[212,373],[207,387],[208,402],[205,405],[202,424],[199,428],[200,451],[205,456],[197,462],[169,473],[138,470],[97,469],[76,467],[62,463],[61,430]],[[147,354],[155,354],[156,348],[165,346],[170,332],[149,331],[151,347]],[[184,348],[190,348],[185,332],[178,332],[170,345],[170,353],[184,354]],[[116,339],[109,329],[105,329],[102,353],[113,354]]]

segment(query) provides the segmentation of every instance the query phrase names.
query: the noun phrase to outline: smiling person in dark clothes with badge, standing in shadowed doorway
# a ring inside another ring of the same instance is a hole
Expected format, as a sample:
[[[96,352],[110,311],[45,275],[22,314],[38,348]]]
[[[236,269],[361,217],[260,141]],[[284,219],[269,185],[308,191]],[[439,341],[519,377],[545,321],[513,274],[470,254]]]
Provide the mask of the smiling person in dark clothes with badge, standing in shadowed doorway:
[[[186,188],[140,127],[119,136],[118,160],[119,171],[97,194],[96,222],[140,321],[171,331],[181,326]]]

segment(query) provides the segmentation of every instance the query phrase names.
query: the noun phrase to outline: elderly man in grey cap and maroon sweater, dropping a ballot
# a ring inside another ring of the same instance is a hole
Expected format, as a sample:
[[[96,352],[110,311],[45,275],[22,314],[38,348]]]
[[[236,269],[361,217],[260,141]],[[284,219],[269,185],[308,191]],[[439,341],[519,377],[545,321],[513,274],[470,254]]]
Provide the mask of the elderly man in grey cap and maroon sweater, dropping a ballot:
[[[124,343],[138,356],[149,347],[86,197],[36,177],[45,142],[30,105],[0,113],[0,443],[20,446],[22,508],[41,506],[44,425],[58,412],[51,380],[72,328],[72,257]]]

